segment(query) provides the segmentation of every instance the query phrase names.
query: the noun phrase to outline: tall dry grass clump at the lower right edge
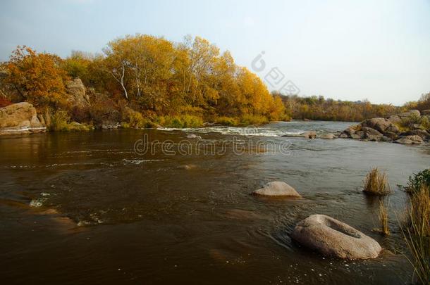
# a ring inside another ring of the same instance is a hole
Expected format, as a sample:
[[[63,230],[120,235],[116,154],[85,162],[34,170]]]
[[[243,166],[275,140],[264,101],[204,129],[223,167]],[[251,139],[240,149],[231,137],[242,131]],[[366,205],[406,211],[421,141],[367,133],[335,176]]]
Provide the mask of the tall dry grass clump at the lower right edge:
[[[430,193],[422,185],[410,196],[406,221],[401,227],[414,266],[414,283],[430,284]]]

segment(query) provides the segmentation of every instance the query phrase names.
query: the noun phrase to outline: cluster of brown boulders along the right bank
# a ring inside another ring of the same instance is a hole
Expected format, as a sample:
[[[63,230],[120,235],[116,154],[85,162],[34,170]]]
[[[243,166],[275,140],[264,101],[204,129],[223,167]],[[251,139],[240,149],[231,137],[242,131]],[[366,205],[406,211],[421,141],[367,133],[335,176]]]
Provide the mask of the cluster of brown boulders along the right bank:
[[[340,138],[364,139],[369,141],[393,141],[398,144],[422,144],[430,139],[429,129],[421,124],[410,124],[407,131],[402,130],[401,125],[404,120],[410,118],[423,118],[429,120],[429,112],[424,111],[423,115],[419,110],[410,110],[399,115],[391,115],[389,118],[372,118],[364,120],[360,125],[348,127],[341,134]]]

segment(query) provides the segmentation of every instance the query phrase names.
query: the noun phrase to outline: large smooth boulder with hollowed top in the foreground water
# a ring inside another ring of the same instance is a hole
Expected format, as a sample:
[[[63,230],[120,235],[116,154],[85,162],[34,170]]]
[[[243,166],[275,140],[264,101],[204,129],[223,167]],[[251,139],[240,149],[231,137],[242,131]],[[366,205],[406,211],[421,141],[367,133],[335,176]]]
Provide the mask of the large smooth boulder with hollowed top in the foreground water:
[[[323,255],[349,260],[376,258],[382,249],[374,239],[326,215],[311,215],[302,220],[292,237]]]

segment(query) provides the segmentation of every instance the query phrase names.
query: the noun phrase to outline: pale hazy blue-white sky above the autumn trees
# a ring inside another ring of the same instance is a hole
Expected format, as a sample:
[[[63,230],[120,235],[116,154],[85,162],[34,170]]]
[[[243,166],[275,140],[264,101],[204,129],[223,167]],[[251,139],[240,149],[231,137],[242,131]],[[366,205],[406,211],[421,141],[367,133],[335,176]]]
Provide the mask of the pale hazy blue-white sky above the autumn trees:
[[[135,33],[199,35],[251,70],[264,51],[257,74],[278,68],[301,96],[401,105],[430,91],[430,0],[0,1],[0,61],[18,44],[65,57]]]

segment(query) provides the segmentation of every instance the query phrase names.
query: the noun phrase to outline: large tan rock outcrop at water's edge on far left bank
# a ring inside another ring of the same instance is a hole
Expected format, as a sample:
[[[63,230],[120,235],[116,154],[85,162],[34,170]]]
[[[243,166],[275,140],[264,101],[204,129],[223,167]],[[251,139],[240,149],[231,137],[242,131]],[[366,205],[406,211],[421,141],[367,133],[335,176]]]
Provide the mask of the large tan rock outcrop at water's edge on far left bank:
[[[35,107],[27,102],[0,108],[0,134],[25,134],[47,130],[37,118]]]

